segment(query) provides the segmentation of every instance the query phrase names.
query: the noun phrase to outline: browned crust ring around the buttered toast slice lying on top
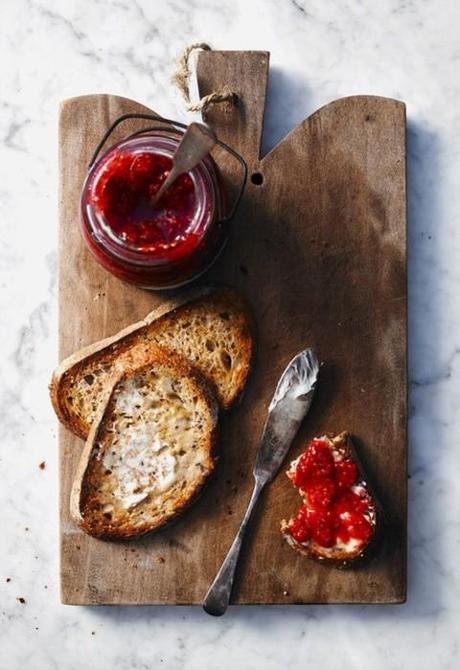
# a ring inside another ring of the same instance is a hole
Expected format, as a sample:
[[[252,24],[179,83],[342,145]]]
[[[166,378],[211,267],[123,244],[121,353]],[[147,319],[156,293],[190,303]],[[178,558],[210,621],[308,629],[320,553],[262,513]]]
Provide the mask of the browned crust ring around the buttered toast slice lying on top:
[[[85,518],[83,513],[85,496],[91,492],[88,490],[90,484],[88,484],[87,478],[94,453],[94,446],[104,432],[106,411],[112,402],[115,389],[122,381],[128,379],[131,375],[158,367],[166,367],[168,370],[172,370],[176,377],[186,377],[188,383],[193,387],[194,392],[199,394],[207,406],[209,431],[206,434],[206,443],[202,446],[202,449],[206,452],[206,460],[203,462],[201,477],[195,483],[192,491],[183,494],[177,499],[172,513],[165,514],[155,524],[144,523],[141,526],[136,525],[135,527],[126,524],[122,527],[112,527],[111,524],[107,522],[91,523],[91,521]],[[167,349],[159,347],[151,349],[149,360],[147,362],[143,361],[140,366],[133,362],[131,367],[125,368],[124,370],[115,369],[106,386],[104,397],[99,406],[97,418],[91,426],[72,486],[70,513],[77,525],[85,533],[88,533],[93,537],[106,540],[129,540],[154,532],[159,528],[164,527],[166,524],[177,520],[177,518],[196,501],[202,492],[203,487],[214,472],[218,460],[216,454],[218,413],[219,407],[215,396],[204,378],[194,370],[184,358],[172,354]]]

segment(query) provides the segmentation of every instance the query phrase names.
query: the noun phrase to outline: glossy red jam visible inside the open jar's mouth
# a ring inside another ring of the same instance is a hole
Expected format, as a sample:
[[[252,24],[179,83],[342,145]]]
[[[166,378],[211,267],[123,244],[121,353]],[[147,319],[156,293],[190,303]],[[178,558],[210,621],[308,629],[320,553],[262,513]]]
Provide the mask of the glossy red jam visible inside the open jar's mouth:
[[[172,167],[168,156],[116,152],[92,186],[95,213],[132,249],[173,259],[199,243],[191,230],[196,210],[192,179],[180,175],[152,206]]]

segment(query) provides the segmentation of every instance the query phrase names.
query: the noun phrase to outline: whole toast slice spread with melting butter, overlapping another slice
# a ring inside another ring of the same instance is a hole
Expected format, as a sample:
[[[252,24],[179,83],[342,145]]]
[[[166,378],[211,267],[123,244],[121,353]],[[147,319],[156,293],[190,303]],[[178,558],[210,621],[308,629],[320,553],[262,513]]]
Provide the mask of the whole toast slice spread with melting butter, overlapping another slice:
[[[177,517],[213,472],[217,413],[206,382],[167,350],[115,372],[72,488],[78,525],[128,539]]]

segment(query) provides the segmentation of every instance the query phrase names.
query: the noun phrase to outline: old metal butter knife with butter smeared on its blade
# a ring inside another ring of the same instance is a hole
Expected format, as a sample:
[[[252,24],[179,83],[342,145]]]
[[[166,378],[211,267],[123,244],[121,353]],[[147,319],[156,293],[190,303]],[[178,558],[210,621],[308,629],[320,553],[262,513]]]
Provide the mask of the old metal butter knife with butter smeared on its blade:
[[[276,387],[268,408],[262,440],[254,465],[254,489],[238,533],[203,602],[208,614],[222,616],[227,610],[243,537],[264,486],[283,463],[307,414],[315,392],[319,363],[312,349],[297,354]]]

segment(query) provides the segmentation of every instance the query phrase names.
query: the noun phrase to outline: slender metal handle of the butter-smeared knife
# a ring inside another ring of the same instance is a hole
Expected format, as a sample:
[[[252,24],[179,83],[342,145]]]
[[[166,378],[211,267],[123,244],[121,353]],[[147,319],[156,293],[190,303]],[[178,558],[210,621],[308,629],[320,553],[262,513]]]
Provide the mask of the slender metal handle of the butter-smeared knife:
[[[213,583],[209,588],[209,591],[205,596],[203,609],[208,614],[212,614],[212,616],[222,616],[222,614],[225,614],[227,610],[228,603],[230,602],[230,594],[232,592],[233,579],[235,577],[238,557],[240,555],[241,545],[243,544],[244,534],[263,487],[264,482],[256,479],[251,500],[249,501],[246,513],[240,524],[236,537],[233,540],[233,544],[230,547],[219,572],[217,573]]]

